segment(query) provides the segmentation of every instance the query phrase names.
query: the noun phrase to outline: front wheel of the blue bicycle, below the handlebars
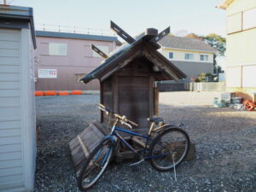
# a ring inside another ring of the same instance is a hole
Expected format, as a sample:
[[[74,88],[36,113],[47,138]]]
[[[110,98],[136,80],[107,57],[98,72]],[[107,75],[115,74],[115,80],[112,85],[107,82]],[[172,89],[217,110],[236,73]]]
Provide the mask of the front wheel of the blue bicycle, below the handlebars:
[[[108,138],[90,153],[79,174],[79,189],[90,189],[102,177],[113,154],[113,145]]]

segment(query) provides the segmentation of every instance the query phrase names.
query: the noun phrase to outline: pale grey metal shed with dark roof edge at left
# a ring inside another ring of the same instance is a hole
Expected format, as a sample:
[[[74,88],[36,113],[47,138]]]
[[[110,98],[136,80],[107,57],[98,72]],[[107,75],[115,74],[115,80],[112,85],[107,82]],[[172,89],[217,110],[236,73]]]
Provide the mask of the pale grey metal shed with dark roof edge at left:
[[[0,191],[33,191],[36,165],[32,9],[0,5]]]

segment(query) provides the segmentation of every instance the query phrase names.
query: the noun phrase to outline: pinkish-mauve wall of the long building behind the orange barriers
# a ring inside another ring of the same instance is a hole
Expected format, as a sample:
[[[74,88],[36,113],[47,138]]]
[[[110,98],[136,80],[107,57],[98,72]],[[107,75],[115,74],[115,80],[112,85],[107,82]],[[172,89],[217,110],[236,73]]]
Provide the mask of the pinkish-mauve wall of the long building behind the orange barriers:
[[[101,65],[102,57],[94,57],[90,44],[108,46],[109,52],[115,49],[113,41],[86,40],[75,38],[37,37],[35,50],[36,90],[99,90],[99,82],[89,84],[77,82],[76,74],[90,73]],[[49,43],[67,44],[67,55],[49,55]],[[56,69],[56,79],[39,79],[38,68]]]

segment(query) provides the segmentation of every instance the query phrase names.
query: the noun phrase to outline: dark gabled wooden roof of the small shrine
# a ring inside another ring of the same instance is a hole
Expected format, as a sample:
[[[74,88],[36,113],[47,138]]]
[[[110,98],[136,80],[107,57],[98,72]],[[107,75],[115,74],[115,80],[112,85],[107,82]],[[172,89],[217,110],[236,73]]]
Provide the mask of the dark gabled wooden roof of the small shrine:
[[[156,41],[157,36],[156,29],[147,29],[146,32],[135,38],[132,43],[124,44],[119,49],[113,51],[107,59],[102,61],[101,66],[96,67],[96,69],[85,75],[80,81],[88,83],[92,79],[99,79],[102,82],[138,57],[145,57],[154,64],[156,72],[162,73],[162,78],[158,80],[186,78],[186,75],[172,61],[169,61],[164,55],[160,54],[158,51],[160,44]]]

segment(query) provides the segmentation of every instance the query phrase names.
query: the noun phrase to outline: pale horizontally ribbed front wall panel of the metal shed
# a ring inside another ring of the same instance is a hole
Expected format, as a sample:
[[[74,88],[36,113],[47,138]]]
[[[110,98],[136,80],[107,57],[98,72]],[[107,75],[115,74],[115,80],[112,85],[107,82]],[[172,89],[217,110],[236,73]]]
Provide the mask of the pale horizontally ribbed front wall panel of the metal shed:
[[[0,29],[0,191],[24,184],[20,119],[20,30]]]

